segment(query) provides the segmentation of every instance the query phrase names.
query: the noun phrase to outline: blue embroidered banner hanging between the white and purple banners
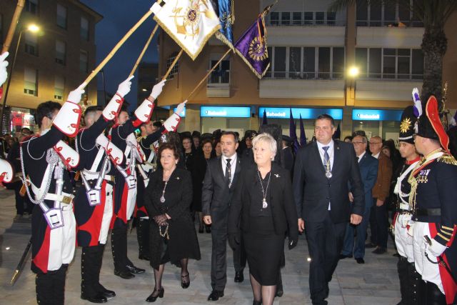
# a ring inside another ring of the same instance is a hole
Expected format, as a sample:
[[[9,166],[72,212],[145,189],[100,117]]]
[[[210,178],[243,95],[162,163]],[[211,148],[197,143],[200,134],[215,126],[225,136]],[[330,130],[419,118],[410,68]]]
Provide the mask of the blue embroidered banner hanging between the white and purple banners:
[[[221,29],[216,32],[216,37],[234,50],[233,33],[231,31],[231,25],[235,22],[233,0],[211,0],[211,2],[221,23]]]

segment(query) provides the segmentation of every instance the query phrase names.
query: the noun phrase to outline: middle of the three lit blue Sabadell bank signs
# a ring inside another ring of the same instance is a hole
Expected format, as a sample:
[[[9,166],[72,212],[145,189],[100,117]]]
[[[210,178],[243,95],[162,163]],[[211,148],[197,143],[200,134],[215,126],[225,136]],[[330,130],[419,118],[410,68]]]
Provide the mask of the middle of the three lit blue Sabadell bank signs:
[[[274,107],[260,107],[258,108],[258,116],[263,118],[263,111],[266,111],[266,117],[268,119],[289,119],[291,116],[293,119],[316,119],[321,114],[328,114],[333,119],[343,119],[343,109],[331,109],[331,108],[274,108]]]

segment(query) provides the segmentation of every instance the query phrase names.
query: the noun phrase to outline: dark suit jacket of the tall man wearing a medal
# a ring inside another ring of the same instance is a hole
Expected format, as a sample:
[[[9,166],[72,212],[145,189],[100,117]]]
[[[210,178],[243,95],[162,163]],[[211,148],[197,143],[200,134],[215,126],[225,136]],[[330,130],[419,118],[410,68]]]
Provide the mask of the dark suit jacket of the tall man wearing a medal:
[[[293,169],[293,194],[297,214],[306,221],[322,221],[328,213],[334,223],[346,222],[350,214],[363,215],[365,199],[353,145],[334,141],[332,177],[327,179],[317,142],[299,149]],[[354,197],[348,198],[348,183]]]

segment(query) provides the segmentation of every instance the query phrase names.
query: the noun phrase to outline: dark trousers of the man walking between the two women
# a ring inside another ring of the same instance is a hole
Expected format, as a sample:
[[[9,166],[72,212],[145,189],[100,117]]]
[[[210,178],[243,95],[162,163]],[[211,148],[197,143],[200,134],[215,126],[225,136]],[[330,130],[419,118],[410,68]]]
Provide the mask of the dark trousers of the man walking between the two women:
[[[224,291],[227,283],[227,230],[211,229],[213,241],[211,251],[211,287],[213,290]],[[243,241],[233,251],[235,271],[243,271],[246,266],[246,251]]]

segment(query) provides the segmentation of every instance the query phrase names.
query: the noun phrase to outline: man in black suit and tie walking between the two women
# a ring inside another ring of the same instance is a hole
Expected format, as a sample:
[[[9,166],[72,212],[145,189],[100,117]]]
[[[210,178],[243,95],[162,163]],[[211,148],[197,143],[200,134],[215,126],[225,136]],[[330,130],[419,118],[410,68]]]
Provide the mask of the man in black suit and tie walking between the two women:
[[[241,158],[236,154],[238,136],[231,131],[224,131],[221,136],[222,156],[210,159],[206,167],[205,179],[201,191],[201,205],[205,224],[211,224],[211,239],[213,241],[211,253],[211,287],[213,291],[209,301],[217,301],[224,296],[227,282],[227,221],[230,201],[235,181],[241,171]],[[233,251],[233,265],[235,266],[235,281],[243,281],[243,268],[246,257],[239,246]]]

